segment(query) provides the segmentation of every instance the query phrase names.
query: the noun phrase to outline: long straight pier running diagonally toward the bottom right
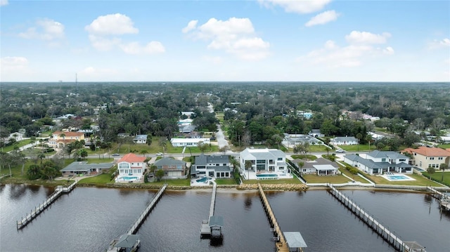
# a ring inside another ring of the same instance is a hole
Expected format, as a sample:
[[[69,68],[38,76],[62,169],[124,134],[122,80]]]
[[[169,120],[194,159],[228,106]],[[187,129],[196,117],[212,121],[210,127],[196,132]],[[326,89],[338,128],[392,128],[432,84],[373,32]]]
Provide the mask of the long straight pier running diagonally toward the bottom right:
[[[375,231],[380,237],[385,239],[389,244],[391,244],[397,251],[401,252],[412,252],[412,251],[425,251],[425,248],[417,244],[415,241],[402,241],[397,235],[392,233],[386,227],[381,225],[378,220],[375,220],[373,216],[369,215],[366,211],[364,211],[360,206],[357,206],[352,200],[350,200],[345,194],[339,192],[333,185],[328,184],[330,187],[330,194],[332,194],[335,199],[338,199],[340,203],[342,203],[345,207],[347,207],[356,217],[362,220],[368,227],[371,227],[373,231]],[[415,248],[410,248],[411,245],[408,244],[416,244]],[[420,247],[420,250],[418,250]]]

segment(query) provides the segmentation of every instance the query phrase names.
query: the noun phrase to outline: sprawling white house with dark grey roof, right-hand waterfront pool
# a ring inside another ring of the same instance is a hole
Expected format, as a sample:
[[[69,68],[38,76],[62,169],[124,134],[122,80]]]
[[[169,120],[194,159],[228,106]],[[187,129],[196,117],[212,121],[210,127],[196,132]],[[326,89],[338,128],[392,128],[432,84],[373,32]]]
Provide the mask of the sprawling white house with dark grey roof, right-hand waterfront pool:
[[[413,173],[413,166],[409,164],[409,157],[398,152],[374,150],[367,153],[366,157],[348,154],[344,156],[344,161],[371,175],[389,172]]]

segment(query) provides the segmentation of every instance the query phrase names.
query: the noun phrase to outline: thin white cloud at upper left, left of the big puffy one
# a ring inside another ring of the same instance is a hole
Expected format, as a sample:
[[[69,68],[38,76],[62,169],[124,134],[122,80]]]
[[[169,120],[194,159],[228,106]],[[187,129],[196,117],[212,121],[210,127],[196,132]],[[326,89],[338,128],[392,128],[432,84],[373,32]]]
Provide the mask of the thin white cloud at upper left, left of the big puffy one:
[[[40,19],[36,21],[36,27],[30,27],[25,32],[20,32],[19,37],[45,41],[62,39],[64,37],[64,25],[51,19]]]

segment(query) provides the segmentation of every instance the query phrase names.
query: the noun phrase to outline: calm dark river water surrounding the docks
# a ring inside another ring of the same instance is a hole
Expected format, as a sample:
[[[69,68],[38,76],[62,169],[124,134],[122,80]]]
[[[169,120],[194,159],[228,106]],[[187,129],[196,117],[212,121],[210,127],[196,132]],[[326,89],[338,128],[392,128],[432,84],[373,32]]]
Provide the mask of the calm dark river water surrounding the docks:
[[[77,187],[63,194],[32,223],[15,220],[46,199],[53,188],[0,186],[0,251],[105,251],[127,232],[154,190]],[[405,241],[431,251],[450,248],[450,214],[427,194],[343,190]],[[300,231],[307,251],[394,251],[325,190],[268,192],[283,231]],[[256,193],[218,192],[214,214],[224,217],[224,240],[200,239],[211,193],[170,192],[139,229],[139,251],[276,251],[269,220]]]

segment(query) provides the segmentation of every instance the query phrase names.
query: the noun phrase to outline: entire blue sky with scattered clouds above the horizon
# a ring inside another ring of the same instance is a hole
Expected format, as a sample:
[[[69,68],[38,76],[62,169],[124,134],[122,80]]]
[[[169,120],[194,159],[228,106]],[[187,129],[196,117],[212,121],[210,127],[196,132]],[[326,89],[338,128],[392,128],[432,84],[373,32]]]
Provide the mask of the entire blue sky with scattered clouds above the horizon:
[[[0,0],[0,81],[450,81],[450,1]]]

